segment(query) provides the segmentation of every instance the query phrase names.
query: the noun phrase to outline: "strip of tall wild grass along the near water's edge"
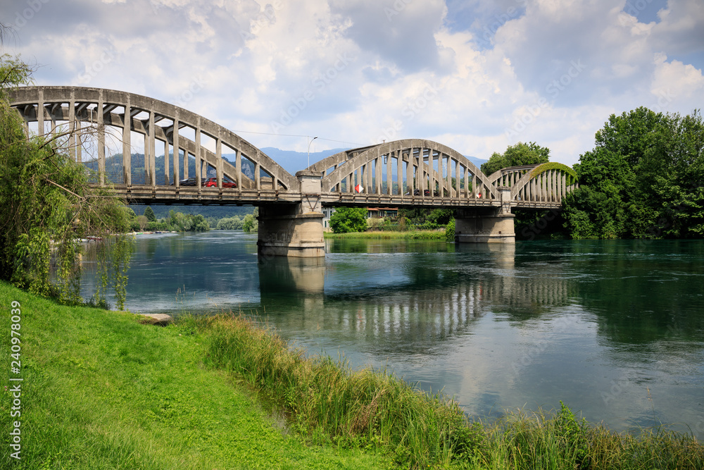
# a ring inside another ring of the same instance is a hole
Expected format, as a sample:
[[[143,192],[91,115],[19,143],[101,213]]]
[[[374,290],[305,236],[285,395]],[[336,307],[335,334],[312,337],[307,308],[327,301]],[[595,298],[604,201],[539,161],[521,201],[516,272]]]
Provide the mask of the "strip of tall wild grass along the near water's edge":
[[[213,365],[235,373],[313,440],[379,448],[410,468],[704,469],[704,447],[664,429],[613,433],[558,412],[508,412],[467,421],[444,395],[428,395],[386,371],[355,371],[346,361],[306,358],[244,316],[201,319]]]

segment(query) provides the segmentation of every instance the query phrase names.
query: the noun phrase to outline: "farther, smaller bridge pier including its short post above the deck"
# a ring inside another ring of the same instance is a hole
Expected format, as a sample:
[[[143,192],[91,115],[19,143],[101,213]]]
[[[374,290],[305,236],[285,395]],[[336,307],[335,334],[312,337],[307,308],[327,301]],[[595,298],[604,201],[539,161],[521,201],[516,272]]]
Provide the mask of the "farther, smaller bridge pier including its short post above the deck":
[[[501,206],[458,209],[455,212],[455,242],[458,243],[515,243],[511,214],[511,190],[498,187]]]

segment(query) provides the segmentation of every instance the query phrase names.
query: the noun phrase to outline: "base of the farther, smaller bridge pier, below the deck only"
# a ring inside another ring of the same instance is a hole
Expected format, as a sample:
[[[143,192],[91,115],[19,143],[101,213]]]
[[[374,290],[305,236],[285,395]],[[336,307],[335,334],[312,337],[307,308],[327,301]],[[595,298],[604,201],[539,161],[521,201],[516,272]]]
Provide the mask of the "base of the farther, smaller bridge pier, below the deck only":
[[[500,214],[501,209],[489,214],[460,210],[455,214],[455,242],[505,243],[516,242],[513,214]],[[499,214],[497,214],[499,213]]]

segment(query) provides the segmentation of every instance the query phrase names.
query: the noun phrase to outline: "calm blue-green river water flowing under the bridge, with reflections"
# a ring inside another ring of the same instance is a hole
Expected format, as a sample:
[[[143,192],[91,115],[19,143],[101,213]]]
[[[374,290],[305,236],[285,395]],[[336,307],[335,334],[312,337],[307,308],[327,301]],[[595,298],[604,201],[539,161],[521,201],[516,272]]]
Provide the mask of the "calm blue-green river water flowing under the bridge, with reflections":
[[[704,438],[704,242],[326,244],[325,259],[258,259],[256,235],[139,235],[126,307],[256,314],[483,419],[562,400],[615,431]]]

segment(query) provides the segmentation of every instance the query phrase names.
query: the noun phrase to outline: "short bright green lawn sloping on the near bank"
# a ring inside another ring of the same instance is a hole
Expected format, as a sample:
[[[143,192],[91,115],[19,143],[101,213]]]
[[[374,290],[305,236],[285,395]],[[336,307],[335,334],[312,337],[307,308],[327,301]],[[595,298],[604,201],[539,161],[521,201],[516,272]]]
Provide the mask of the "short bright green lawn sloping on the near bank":
[[[10,459],[11,397],[0,384],[0,468],[377,469],[381,455],[306,445],[244,385],[203,365],[188,326],[144,326],[131,314],[63,307],[0,283],[1,344],[21,305],[22,451]],[[8,354],[1,366],[10,369]]]

